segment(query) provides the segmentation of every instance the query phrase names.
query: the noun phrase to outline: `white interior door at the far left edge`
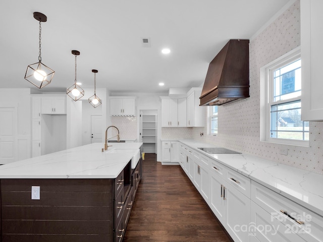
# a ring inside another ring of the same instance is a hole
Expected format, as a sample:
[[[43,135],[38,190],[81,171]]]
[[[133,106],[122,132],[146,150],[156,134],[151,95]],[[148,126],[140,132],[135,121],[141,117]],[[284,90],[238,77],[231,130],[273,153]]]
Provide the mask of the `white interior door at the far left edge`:
[[[0,164],[16,161],[17,108],[0,107]]]

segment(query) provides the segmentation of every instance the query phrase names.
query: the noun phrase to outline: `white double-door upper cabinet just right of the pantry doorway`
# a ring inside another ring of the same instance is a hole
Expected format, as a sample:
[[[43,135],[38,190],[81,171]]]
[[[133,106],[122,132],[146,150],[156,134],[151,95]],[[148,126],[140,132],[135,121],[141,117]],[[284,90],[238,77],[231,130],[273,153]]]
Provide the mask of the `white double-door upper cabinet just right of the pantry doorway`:
[[[161,127],[178,127],[177,99],[161,99]]]

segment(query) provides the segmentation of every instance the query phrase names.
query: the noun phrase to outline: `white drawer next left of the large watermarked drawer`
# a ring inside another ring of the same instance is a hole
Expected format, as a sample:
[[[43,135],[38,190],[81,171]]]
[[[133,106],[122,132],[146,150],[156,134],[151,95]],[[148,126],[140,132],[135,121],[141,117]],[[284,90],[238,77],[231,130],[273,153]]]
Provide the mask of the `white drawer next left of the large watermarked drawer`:
[[[246,197],[250,198],[250,186],[251,186],[250,178],[228,168],[227,181],[229,184],[231,184],[231,186],[236,188]]]

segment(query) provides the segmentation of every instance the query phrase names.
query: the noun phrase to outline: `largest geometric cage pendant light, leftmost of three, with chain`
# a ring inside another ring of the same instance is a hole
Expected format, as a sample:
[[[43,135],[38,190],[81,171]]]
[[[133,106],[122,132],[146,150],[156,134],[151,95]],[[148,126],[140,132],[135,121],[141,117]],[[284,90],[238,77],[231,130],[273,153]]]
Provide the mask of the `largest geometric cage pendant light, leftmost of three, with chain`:
[[[38,88],[42,88],[51,82],[55,71],[41,63],[41,22],[46,22],[46,15],[34,12],[34,18],[39,21],[39,56],[38,62],[27,67],[25,79]]]

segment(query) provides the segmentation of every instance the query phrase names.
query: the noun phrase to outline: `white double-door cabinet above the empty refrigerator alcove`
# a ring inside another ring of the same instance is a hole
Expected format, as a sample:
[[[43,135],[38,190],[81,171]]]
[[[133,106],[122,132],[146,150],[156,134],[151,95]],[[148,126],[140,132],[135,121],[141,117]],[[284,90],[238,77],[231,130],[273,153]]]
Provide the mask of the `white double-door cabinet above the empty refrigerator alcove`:
[[[41,97],[42,114],[66,114],[66,95],[60,96],[42,96]]]

